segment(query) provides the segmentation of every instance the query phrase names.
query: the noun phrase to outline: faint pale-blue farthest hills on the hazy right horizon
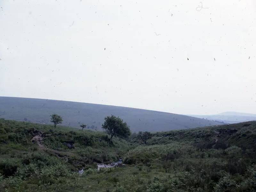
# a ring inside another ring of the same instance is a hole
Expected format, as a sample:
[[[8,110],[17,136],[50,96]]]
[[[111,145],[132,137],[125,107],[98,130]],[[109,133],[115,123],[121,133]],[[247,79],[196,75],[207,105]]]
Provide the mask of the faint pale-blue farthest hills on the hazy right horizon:
[[[238,112],[231,112],[231,111],[223,112],[216,115],[189,115],[189,116],[202,118],[202,119],[204,118],[212,121],[230,123],[230,124],[256,120],[256,114],[238,113]]]

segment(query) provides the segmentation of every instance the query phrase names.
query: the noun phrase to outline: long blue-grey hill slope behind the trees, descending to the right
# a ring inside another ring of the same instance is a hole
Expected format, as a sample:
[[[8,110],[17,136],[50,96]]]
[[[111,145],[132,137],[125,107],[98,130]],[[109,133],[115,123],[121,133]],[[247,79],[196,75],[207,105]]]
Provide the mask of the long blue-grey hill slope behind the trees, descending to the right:
[[[110,115],[124,119],[132,132],[169,131],[220,124],[185,115],[137,108],[60,100],[0,97],[0,118],[51,124],[50,115],[53,113],[63,117],[62,125],[80,128],[80,124],[87,124],[87,127],[97,130],[101,130],[104,117]]]

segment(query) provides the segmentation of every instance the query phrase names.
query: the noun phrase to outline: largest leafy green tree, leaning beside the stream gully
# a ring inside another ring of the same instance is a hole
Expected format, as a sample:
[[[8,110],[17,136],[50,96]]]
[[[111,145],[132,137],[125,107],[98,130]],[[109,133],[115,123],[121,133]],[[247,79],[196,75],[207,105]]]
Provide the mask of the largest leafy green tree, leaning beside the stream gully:
[[[102,129],[105,129],[110,135],[110,141],[114,136],[125,138],[131,135],[130,128],[126,123],[123,123],[123,119],[113,115],[105,117]]]

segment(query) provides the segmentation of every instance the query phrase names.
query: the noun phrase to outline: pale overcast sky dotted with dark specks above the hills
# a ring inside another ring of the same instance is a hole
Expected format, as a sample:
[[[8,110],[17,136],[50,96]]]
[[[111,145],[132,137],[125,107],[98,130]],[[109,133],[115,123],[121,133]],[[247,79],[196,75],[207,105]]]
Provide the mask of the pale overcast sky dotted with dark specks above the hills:
[[[0,96],[256,113],[255,0],[1,0],[0,24]]]

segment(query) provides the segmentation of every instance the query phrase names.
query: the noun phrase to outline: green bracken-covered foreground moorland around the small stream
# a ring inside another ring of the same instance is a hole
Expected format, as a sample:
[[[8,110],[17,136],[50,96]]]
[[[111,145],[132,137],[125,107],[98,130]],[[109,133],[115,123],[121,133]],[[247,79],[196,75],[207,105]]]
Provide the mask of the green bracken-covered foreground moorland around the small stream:
[[[156,132],[144,145],[135,134],[110,142],[104,132],[0,119],[0,191],[256,191],[255,128]],[[125,165],[97,171],[119,158]]]

